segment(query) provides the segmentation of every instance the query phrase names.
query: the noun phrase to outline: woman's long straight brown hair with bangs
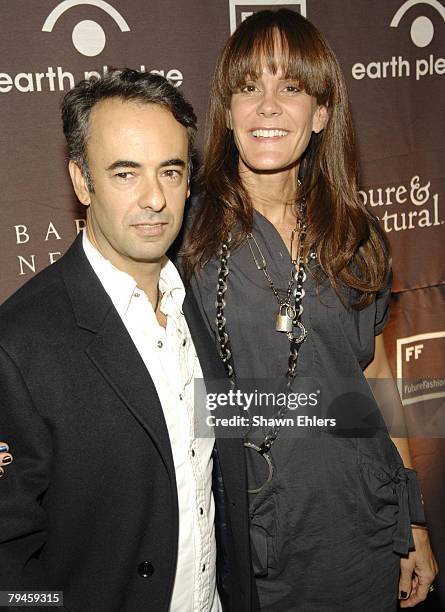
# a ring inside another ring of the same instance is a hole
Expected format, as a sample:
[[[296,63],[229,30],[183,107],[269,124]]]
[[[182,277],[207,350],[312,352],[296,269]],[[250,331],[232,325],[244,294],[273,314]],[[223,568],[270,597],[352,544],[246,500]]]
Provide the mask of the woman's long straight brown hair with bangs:
[[[239,176],[227,109],[233,92],[264,68],[272,74],[281,70],[283,78],[295,79],[328,109],[324,130],[312,134],[300,160],[295,202],[306,198],[306,244],[316,250],[329,282],[337,292],[344,287],[355,290],[354,307],[364,308],[387,278],[388,242],[358,197],[351,113],[338,61],[315,26],[288,9],[261,11],[246,19],[216,65],[200,172],[203,202],[186,239],[185,276],[190,279],[218,253],[235,223],[235,245],[252,229],[253,206]]]

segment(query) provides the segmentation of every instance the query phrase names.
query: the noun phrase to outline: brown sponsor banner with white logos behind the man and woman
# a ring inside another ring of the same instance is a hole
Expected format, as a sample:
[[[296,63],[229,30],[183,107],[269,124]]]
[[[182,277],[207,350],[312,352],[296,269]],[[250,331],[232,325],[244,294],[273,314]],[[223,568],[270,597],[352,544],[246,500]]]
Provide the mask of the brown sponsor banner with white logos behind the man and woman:
[[[109,67],[158,72],[191,100],[202,132],[225,39],[252,12],[279,6],[317,25],[346,75],[360,196],[393,249],[385,342],[445,568],[444,2],[0,0],[0,301],[56,261],[84,225],[68,180],[63,93]]]

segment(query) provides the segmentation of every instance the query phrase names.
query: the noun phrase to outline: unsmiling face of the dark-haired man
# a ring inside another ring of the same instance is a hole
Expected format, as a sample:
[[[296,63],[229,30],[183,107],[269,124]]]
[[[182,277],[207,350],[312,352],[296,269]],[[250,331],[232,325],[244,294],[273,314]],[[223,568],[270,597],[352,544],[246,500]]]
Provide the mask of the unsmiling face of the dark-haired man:
[[[88,237],[120,270],[159,263],[182,224],[188,190],[188,135],[166,109],[111,98],[91,111],[87,140],[94,192],[74,162]]]

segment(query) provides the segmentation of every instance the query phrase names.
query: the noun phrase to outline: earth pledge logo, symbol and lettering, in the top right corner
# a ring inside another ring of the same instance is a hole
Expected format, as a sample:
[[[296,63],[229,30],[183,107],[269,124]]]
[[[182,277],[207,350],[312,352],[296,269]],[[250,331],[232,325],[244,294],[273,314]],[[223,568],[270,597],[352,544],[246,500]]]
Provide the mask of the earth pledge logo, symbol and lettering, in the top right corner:
[[[433,20],[425,15],[416,17],[411,22],[409,34],[407,23],[409,23],[409,12],[415,6],[426,5],[434,9],[436,18]],[[394,13],[389,23],[390,28],[397,29],[399,36],[411,38],[411,42],[417,48],[427,48],[435,35],[441,36],[445,23],[445,7],[438,0],[407,0]],[[389,58],[378,59],[368,63],[356,62],[351,73],[354,79],[388,79],[388,78],[415,78],[416,81],[424,77],[445,74],[445,58],[436,57],[433,53],[424,54],[414,60],[393,55]]]

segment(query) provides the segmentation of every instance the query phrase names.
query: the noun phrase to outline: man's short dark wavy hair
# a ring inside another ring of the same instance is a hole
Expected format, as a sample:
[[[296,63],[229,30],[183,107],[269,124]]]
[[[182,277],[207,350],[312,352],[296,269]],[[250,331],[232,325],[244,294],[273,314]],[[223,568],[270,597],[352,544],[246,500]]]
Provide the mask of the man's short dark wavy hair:
[[[101,78],[93,76],[80,81],[62,100],[63,133],[68,146],[68,157],[81,169],[90,191],[94,190],[86,150],[90,113],[98,102],[109,98],[156,104],[169,110],[176,121],[187,129],[191,170],[192,147],[196,134],[196,115],[191,104],[176,87],[159,74],[139,72],[130,68],[113,69]]]

